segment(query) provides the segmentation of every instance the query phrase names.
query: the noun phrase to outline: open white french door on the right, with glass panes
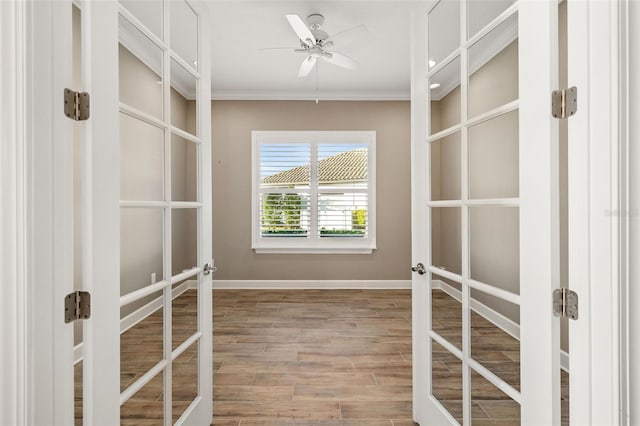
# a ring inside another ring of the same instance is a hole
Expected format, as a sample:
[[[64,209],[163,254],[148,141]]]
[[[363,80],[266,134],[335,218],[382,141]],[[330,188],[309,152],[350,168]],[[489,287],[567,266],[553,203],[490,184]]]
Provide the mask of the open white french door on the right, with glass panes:
[[[420,424],[560,424],[557,13],[441,0],[414,16]]]

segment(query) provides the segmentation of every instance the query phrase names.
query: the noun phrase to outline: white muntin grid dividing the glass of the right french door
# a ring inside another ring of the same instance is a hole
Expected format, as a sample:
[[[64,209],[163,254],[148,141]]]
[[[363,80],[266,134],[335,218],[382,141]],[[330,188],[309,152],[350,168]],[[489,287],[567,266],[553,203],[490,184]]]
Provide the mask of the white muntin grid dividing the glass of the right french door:
[[[438,3],[440,4],[440,3]],[[437,7],[436,4],[434,6]],[[498,28],[502,23],[507,21],[507,19],[518,13],[518,4],[508,7],[505,11],[500,13],[495,19],[493,19],[490,23],[488,23],[483,29],[478,31],[473,37],[467,40],[467,1],[460,1],[460,10],[459,10],[459,18],[460,18],[460,43],[453,52],[451,52],[446,58],[442,61],[434,65],[431,69],[427,70],[426,79],[427,85],[430,86],[430,79],[433,78],[439,71],[441,71],[446,66],[452,64],[454,61],[459,60],[460,62],[460,121],[446,129],[442,129],[434,134],[430,134],[427,137],[427,144],[430,146],[432,142],[436,142],[446,136],[453,135],[455,133],[460,134],[460,199],[459,200],[437,200],[437,201],[428,201],[427,202],[427,226],[428,229],[432,229],[432,209],[434,208],[443,208],[443,207],[455,207],[460,210],[460,224],[461,224],[461,274],[452,273],[447,270],[443,270],[438,268],[437,265],[433,264],[433,256],[432,256],[432,245],[431,245],[431,237],[428,242],[428,267],[427,272],[429,274],[429,281],[433,281],[433,275],[439,275],[441,277],[450,279],[459,283],[462,286],[462,350],[455,347],[452,343],[450,343],[446,338],[440,336],[436,331],[433,330],[432,321],[429,320],[430,330],[429,330],[429,346],[428,351],[431,353],[432,351],[432,341],[437,342],[442,347],[444,347],[447,351],[451,352],[454,356],[456,356],[462,363],[462,401],[463,401],[463,424],[465,426],[470,425],[472,422],[471,416],[471,370],[473,369],[475,372],[484,377],[491,384],[496,386],[506,395],[508,395],[511,399],[516,401],[517,403],[521,403],[521,394],[518,390],[516,390],[509,383],[505,382],[503,379],[498,377],[496,374],[491,372],[489,369],[481,365],[479,362],[475,361],[471,357],[471,289],[475,289],[477,291],[482,291],[486,294],[494,296],[498,299],[513,303],[517,306],[520,306],[520,295],[512,293],[507,290],[503,290],[497,288],[490,283],[483,283],[477,280],[471,279],[470,275],[470,208],[473,206],[492,206],[492,207],[519,207],[520,202],[519,198],[495,198],[495,199],[469,199],[469,162],[468,162],[468,152],[469,152],[469,129],[475,125],[480,123],[492,120],[494,118],[500,117],[504,114],[507,114],[512,111],[517,111],[519,107],[519,101],[513,100],[506,104],[495,107],[489,111],[483,112],[473,117],[469,117],[468,114],[468,96],[469,96],[469,50],[474,46],[479,40],[489,34],[491,31]],[[432,8],[431,10],[434,10]],[[517,15],[516,15],[517,16]],[[427,30],[428,30],[428,19],[427,19]],[[428,43],[427,43],[428,44]],[[427,55],[428,55],[428,46],[427,46]],[[427,56],[429,57],[429,56]],[[427,91],[429,91],[427,89]],[[430,104],[430,96],[429,101]],[[429,109],[430,111],[430,109]],[[431,129],[431,120],[428,118],[428,134]],[[428,150],[428,164],[431,161],[431,150]],[[427,199],[431,200],[431,185],[426,185],[427,190]],[[431,232],[429,233],[431,236]],[[430,294],[430,292],[429,292]],[[430,296],[429,296],[430,297]],[[432,309],[429,310],[433,312]],[[429,369],[432,371],[432,369]],[[433,378],[429,380],[430,383],[433,384]],[[430,390],[432,394],[432,390]],[[433,395],[433,394],[432,394]],[[436,401],[436,404],[439,405],[440,409],[447,413],[446,408],[437,401],[437,398],[433,396],[432,400]],[[448,416],[451,421],[453,420],[452,416]]]

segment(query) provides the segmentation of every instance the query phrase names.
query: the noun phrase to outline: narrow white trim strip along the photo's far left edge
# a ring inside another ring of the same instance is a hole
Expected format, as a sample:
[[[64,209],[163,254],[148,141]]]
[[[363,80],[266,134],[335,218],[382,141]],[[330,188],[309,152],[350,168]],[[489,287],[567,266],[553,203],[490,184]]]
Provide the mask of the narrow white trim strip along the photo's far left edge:
[[[0,423],[27,423],[25,4],[0,3]]]

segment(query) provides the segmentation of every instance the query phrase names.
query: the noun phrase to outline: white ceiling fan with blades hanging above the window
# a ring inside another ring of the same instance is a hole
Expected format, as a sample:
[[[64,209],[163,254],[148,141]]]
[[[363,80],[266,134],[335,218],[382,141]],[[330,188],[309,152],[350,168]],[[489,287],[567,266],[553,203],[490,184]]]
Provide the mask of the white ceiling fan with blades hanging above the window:
[[[355,70],[360,66],[358,62],[350,57],[330,49],[333,49],[334,44],[344,46],[365,35],[367,33],[367,27],[364,25],[358,25],[334,34],[333,36],[329,36],[329,34],[322,29],[324,16],[320,14],[314,13],[309,15],[306,24],[298,15],[286,15],[286,17],[289,25],[291,25],[291,28],[300,39],[300,47],[276,47],[263,50],[291,49],[298,53],[306,53],[307,57],[302,61],[302,65],[300,65],[298,77],[306,77],[309,75],[318,62],[318,59],[323,59],[330,64],[350,70]]]

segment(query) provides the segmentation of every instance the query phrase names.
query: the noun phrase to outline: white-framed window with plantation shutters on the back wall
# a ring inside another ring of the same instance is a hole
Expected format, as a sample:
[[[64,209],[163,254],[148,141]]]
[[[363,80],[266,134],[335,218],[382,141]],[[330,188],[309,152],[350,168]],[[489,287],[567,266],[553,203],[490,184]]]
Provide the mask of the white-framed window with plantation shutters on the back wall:
[[[257,253],[371,253],[375,132],[252,133]]]

